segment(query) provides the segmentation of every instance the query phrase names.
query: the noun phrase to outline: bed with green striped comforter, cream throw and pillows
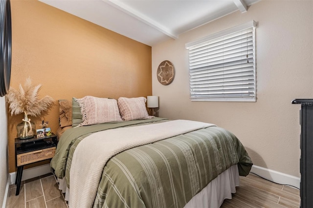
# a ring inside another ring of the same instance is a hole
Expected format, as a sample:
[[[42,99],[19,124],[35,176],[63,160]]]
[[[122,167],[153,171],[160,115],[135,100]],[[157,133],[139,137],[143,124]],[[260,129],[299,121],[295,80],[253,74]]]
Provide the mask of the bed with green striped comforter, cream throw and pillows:
[[[231,132],[151,117],[145,101],[60,101],[60,119],[72,125],[60,123],[51,167],[70,207],[219,207],[249,173],[252,161]]]

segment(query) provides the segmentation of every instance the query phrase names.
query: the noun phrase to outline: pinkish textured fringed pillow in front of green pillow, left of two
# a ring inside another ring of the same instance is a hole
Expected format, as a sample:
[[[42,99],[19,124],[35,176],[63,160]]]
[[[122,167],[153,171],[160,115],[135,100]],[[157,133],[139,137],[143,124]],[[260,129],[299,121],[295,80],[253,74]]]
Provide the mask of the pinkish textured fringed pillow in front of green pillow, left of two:
[[[83,115],[79,126],[122,121],[115,99],[86,96],[76,101]]]

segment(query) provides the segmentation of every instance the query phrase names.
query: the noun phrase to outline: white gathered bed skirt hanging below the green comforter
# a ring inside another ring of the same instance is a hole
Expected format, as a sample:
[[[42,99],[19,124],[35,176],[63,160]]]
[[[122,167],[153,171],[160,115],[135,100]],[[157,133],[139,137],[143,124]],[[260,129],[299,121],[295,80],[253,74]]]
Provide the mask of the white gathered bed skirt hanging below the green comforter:
[[[65,200],[69,200],[69,188],[65,179],[58,179],[59,189],[65,194]],[[238,166],[233,165],[211,181],[198,194],[196,194],[184,208],[219,208],[224,199],[231,199],[231,193],[236,192],[239,186]],[[70,205],[70,203],[68,202]]]

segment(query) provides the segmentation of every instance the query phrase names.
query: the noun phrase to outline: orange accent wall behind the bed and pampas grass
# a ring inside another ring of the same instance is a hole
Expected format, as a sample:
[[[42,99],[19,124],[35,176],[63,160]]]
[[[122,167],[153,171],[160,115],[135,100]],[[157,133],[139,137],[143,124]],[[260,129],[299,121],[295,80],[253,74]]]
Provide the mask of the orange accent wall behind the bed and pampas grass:
[[[86,95],[139,97],[152,94],[151,47],[38,0],[11,0],[11,87],[30,77],[42,84],[39,97],[56,100],[42,120],[59,125],[57,100]],[[14,138],[23,115],[8,114],[9,172],[16,171]],[[33,166],[41,165],[41,163]]]

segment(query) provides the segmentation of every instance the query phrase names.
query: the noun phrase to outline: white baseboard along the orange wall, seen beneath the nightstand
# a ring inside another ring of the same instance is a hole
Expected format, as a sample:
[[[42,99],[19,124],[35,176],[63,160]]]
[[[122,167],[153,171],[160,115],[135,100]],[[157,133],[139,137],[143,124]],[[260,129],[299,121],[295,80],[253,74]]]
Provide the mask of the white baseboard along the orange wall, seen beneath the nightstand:
[[[42,166],[36,166],[36,167],[24,169],[23,174],[22,174],[22,181],[35,178],[37,176],[45,175],[50,172],[51,172],[50,164],[45,164]],[[16,178],[16,172],[10,173],[10,176],[11,176],[11,184],[14,184],[15,178]]]

